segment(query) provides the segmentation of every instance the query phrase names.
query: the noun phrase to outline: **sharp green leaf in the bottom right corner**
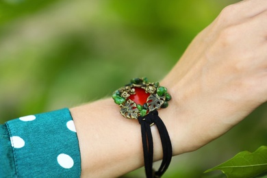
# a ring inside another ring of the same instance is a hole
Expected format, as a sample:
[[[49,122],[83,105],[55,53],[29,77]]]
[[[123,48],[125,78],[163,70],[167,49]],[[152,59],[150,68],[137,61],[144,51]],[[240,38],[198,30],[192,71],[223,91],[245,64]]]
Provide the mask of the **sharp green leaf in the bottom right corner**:
[[[259,147],[255,152],[242,151],[227,162],[206,170],[221,170],[229,178],[255,177],[267,172],[267,147]]]

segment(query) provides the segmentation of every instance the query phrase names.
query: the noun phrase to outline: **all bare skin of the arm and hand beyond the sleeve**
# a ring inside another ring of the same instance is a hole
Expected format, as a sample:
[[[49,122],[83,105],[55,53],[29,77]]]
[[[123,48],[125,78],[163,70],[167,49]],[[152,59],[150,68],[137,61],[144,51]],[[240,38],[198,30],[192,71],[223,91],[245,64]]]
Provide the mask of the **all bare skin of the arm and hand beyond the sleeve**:
[[[192,41],[160,82],[173,99],[159,110],[173,155],[218,138],[267,100],[267,1],[227,6]],[[140,125],[112,99],[71,108],[81,151],[81,177],[118,177],[144,165]],[[162,159],[151,127],[154,160]]]

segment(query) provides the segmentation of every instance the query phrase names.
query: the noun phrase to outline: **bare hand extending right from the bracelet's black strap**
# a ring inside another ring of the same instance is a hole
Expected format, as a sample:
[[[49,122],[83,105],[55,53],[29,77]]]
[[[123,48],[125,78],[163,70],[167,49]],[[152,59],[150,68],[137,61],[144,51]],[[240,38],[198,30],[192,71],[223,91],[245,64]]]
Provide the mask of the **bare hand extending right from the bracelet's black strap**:
[[[267,1],[229,5],[162,81],[173,94],[164,122],[174,153],[194,151],[267,100]],[[162,117],[164,118],[164,117]]]

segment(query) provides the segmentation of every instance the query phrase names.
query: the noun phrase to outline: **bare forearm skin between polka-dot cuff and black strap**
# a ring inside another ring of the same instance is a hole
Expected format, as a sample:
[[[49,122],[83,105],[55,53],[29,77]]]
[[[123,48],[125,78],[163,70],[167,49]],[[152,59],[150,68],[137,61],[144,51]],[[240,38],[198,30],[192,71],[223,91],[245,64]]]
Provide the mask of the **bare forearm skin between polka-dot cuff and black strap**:
[[[119,177],[143,166],[138,122],[123,118],[112,99],[71,108],[71,114],[81,151],[81,177]]]

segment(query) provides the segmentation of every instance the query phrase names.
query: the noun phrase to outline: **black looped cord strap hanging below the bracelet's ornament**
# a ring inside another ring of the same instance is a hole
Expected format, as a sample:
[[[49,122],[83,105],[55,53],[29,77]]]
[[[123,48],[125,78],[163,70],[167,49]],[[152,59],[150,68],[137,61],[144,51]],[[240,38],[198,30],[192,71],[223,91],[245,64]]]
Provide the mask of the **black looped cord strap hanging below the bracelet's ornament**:
[[[158,116],[157,110],[153,110],[146,116],[139,116],[138,121],[141,125],[142,144],[144,151],[144,168],[147,178],[161,177],[170,165],[170,161],[173,156],[173,149],[170,142],[170,136],[168,136],[168,131],[162,119],[160,116]],[[153,171],[153,138],[150,128],[153,124],[157,126],[157,129],[160,133],[163,150],[162,164],[157,171]]]

